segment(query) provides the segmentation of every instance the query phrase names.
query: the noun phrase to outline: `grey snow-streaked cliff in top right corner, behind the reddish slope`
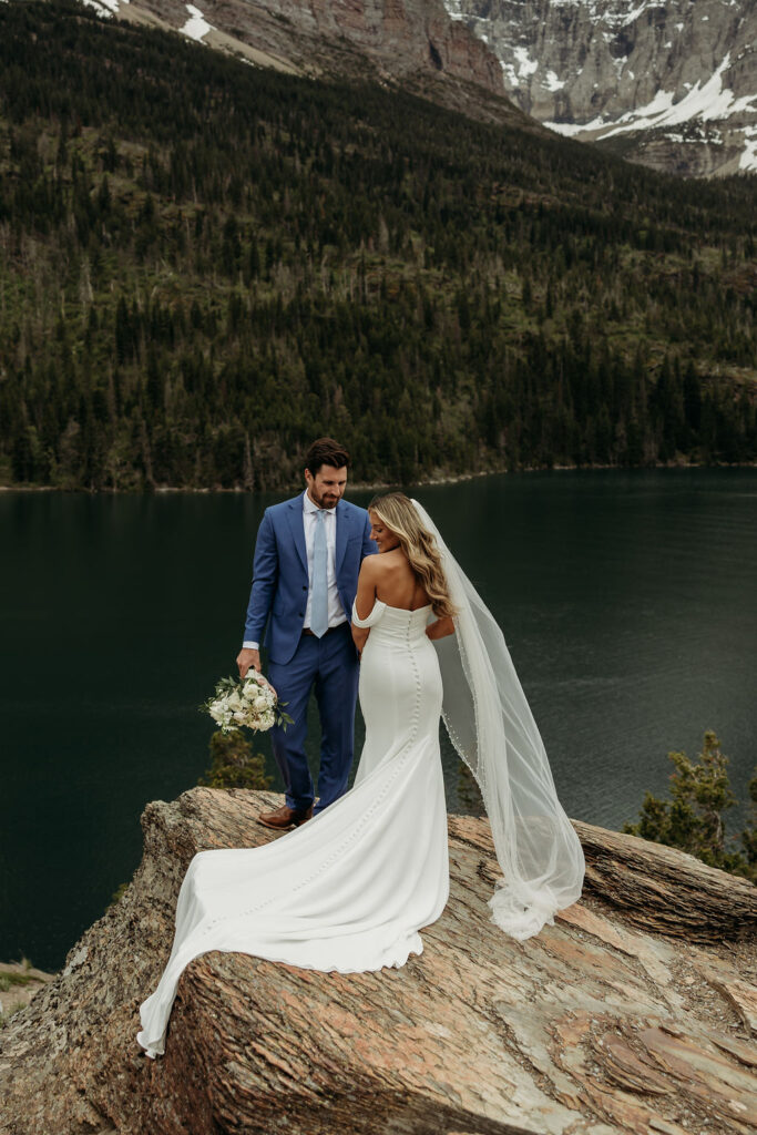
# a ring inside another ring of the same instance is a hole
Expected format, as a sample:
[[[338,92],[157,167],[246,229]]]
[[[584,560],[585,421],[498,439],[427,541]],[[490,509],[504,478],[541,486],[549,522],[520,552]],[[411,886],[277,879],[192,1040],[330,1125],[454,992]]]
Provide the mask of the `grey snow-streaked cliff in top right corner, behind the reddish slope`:
[[[557,132],[707,176],[757,169],[752,0],[445,0]]]

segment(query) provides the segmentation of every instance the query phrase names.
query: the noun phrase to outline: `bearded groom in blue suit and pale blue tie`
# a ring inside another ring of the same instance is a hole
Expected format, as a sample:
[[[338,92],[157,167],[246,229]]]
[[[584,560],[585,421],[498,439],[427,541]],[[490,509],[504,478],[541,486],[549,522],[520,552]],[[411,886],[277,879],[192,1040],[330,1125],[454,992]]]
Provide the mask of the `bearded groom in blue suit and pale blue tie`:
[[[358,573],[377,550],[364,508],[343,501],[350,455],[330,437],[306,455],[305,491],[267,508],[258,529],[239,676],[260,672],[260,642],[268,622],[268,678],[286,712],[271,745],[286,802],[259,818],[284,831],[313,814],[314,790],[305,757],[308,703],[316,688],[321,720],[317,812],[338,799],[352,765],[359,662],[350,620]]]

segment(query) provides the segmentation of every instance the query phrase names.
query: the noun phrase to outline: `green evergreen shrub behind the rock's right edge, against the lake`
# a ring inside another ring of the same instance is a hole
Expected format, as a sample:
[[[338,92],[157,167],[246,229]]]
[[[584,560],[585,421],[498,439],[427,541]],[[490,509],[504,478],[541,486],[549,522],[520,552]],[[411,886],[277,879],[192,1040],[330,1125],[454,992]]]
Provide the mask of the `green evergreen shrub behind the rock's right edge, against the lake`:
[[[672,800],[661,800],[646,792],[636,824],[622,831],[655,843],[680,848],[732,875],[757,882],[757,772],[749,782],[751,800],[746,829],[739,835],[741,849],[726,840],[724,813],[737,804],[727,773],[729,758],[712,730],[705,732],[698,760],[685,753],[668,753],[675,771],[671,773]]]

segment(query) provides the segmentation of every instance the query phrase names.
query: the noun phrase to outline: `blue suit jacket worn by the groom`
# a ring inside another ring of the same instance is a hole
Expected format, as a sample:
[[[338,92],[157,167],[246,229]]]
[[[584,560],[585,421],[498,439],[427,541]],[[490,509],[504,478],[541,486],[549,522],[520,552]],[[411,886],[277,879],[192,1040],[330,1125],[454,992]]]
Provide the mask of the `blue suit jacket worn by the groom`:
[[[371,522],[364,508],[339,501],[336,506],[336,586],[350,620],[358,594],[360,565],[365,556],[378,550],[370,538],[370,530]],[[308,553],[300,494],[292,501],[271,505],[263,513],[258,529],[252,590],[244,627],[245,641],[264,641],[270,658],[280,665],[289,662],[300,642],[308,587]]]

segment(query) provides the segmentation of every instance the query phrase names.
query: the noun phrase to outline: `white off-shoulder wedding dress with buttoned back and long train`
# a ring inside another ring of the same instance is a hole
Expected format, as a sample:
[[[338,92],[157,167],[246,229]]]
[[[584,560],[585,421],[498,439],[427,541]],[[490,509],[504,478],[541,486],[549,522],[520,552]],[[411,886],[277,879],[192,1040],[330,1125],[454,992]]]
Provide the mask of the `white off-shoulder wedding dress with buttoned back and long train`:
[[[441,676],[426,634],[431,608],[379,599],[360,671],[365,743],[354,787],[260,848],[201,851],[176,909],[176,936],[137,1040],[165,1051],[182,970],[209,950],[304,969],[403,966],[447,902],[447,817],[439,756]]]

